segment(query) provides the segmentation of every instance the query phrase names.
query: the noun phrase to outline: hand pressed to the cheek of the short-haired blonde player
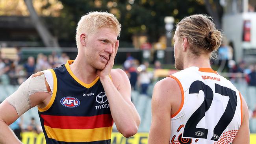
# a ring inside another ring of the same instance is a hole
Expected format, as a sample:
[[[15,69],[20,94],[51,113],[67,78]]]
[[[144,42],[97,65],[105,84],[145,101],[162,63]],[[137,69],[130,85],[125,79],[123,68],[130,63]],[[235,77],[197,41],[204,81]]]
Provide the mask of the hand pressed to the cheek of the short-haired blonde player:
[[[106,64],[103,70],[97,70],[97,75],[100,78],[109,77],[111,69],[113,68],[115,55],[117,54],[117,50],[119,48],[119,41],[117,40],[115,43],[112,44],[112,53],[109,57],[108,63]]]

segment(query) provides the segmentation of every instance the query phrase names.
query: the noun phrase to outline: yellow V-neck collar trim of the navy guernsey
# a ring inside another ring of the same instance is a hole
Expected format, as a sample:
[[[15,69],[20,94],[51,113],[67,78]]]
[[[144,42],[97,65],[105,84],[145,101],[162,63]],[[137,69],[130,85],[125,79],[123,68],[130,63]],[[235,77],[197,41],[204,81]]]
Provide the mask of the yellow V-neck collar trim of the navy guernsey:
[[[86,87],[87,89],[89,89],[90,87],[92,87],[93,85],[95,85],[95,83],[98,81],[99,77],[97,76],[96,79],[93,80],[93,82],[87,84],[84,83],[83,81],[80,81],[80,79],[78,79],[74,73],[71,71],[70,69],[70,64],[72,64],[74,62],[74,60],[68,60],[67,63],[65,64],[67,71],[69,72],[69,74],[72,76],[73,79],[75,79],[78,83],[80,83],[80,85],[82,85],[83,87]]]

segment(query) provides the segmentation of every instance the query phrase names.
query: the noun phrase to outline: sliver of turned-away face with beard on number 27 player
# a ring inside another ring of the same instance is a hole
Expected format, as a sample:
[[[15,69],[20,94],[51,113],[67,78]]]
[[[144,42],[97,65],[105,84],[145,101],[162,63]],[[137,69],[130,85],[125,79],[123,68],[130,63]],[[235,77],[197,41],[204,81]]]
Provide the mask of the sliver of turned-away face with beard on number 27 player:
[[[177,70],[183,70],[183,55],[182,55],[182,38],[178,37],[178,27],[174,37],[174,65]]]

